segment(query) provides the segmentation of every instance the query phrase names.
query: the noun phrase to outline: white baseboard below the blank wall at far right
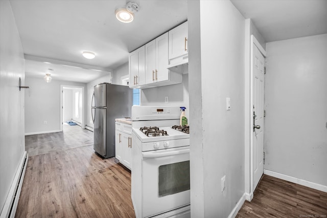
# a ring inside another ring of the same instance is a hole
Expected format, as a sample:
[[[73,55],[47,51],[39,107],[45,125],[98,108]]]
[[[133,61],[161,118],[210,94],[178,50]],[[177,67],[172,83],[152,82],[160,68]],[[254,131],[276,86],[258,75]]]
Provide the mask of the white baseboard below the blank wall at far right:
[[[309,188],[313,188],[313,189],[316,189],[316,190],[319,190],[319,191],[327,192],[327,186],[325,186],[325,185],[320,185],[320,184],[310,182],[310,181],[307,181],[307,180],[302,180],[302,179],[298,179],[298,178],[295,178],[295,177],[287,176],[287,175],[284,175],[282,173],[270,171],[270,170],[267,170],[267,169],[264,169],[264,173],[266,175],[268,175],[268,176],[276,177],[278,179],[286,180],[286,181],[289,181],[289,182],[292,182],[292,183],[295,183],[295,184],[299,184],[299,185],[307,186]]]

